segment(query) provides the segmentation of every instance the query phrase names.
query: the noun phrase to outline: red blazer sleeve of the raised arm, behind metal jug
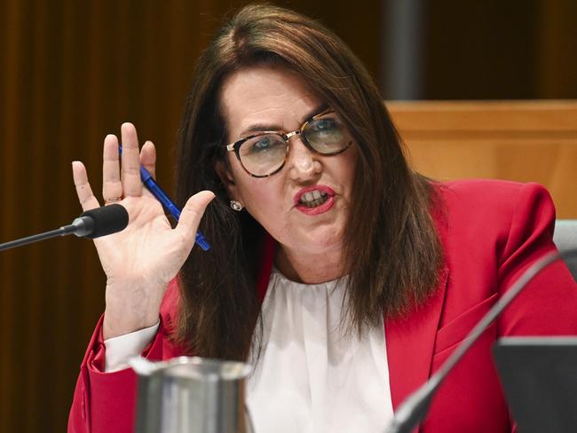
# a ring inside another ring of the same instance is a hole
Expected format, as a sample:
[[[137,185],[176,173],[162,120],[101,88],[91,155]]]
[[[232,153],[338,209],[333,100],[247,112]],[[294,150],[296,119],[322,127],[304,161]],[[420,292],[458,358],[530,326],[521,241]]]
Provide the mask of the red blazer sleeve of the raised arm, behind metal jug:
[[[160,326],[154,340],[143,350],[150,360],[173,358],[183,354],[170,341],[178,302],[178,284],[171,281],[162,300]],[[68,417],[70,433],[132,432],[136,410],[136,374],[130,369],[104,373],[106,346],[99,319],[88,350],[80,366],[80,374],[72,408]]]

